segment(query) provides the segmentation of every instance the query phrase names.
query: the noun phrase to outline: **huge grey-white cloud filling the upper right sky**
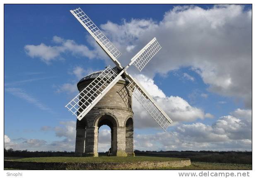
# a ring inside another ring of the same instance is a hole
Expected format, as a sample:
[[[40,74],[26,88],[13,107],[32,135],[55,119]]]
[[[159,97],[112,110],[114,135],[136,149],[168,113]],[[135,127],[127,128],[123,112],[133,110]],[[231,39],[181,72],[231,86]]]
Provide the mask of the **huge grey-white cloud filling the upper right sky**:
[[[251,108],[251,25],[251,10],[242,5],[217,5],[210,9],[176,6],[160,22],[131,19],[122,24],[107,22],[101,28],[122,51],[120,60],[125,64],[157,37],[162,49],[143,70],[150,78],[191,67],[209,91],[242,99]],[[135,47],[129,51],[127,46]]]

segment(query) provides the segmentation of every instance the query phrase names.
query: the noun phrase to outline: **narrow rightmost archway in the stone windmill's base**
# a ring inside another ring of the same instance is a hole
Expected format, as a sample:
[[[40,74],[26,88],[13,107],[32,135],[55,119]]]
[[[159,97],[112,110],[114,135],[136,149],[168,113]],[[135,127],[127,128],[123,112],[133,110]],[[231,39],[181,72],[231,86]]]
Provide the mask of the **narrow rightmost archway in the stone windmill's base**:
[[[133,118],[126,120],[126,154],[133,155]]]

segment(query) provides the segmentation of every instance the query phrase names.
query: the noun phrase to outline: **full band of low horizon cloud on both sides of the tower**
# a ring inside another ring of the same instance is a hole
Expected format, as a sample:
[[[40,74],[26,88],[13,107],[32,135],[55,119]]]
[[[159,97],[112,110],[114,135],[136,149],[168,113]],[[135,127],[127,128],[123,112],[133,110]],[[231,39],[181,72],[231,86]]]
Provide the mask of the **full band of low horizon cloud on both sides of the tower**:
[[[247,150],[252,149],[251,110],[237,109],[220,117],[212,125],[203,123],[179,124],[174,130],[156,134],[134,135],[134,149],[140,150]],[[54,127],[57,137],[63,140],[46,142],[39,139],[13,139],[4,135],[5,148],[31,151],[74,151],[75,121],[60,122]],[[49,130],[46,130],[49,131]],[[99,131],[99,152],[110,148],[111,132]]]

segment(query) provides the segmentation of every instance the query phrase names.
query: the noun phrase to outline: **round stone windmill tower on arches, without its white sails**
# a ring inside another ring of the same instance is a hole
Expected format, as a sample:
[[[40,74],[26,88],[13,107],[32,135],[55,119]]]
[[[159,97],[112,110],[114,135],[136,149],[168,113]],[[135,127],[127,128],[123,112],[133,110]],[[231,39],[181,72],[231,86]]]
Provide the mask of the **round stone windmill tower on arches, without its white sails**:
[[[83,77],[77,83],[78,90],[85,89],[101,72]],[[108,125],[111,129],[113,156],[133,154],[132,94],[127,88],[128,84],[128,79],[121,77],[82,120],[77,120],[77,155],[98,156],[98,130],[102,125]]]

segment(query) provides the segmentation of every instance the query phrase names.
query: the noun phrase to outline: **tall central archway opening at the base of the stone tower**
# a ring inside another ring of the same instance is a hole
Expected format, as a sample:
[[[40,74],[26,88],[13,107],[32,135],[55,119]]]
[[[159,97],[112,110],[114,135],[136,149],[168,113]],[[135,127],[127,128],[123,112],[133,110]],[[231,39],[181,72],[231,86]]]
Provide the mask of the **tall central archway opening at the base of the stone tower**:
[[[106,135],[110,135],[110,153],[111,155],[116,155],[116,150],[117,150],[117,136],[116,136],[116,128],[117,128],[117,123],[116,120],[111,116],[111,115],[102,115],[98,122],[97,122],[97,127],[98,127],[98,152],[100,151],[99,149],[99,131],[101,126],[103,127],[103,129],[105,128],[109,128],[110,129],[110,133],[108,132],[108,130],[105,130],[105,134]],[[108,126],[108,127],[107,127]],[[100,135],[101,136],[101,135]],[[106,138],[104,138],[106,139]],[[104,140],[106,141],[106,140]],[[106,151],[109,151],[109,148],[107,148]]]

